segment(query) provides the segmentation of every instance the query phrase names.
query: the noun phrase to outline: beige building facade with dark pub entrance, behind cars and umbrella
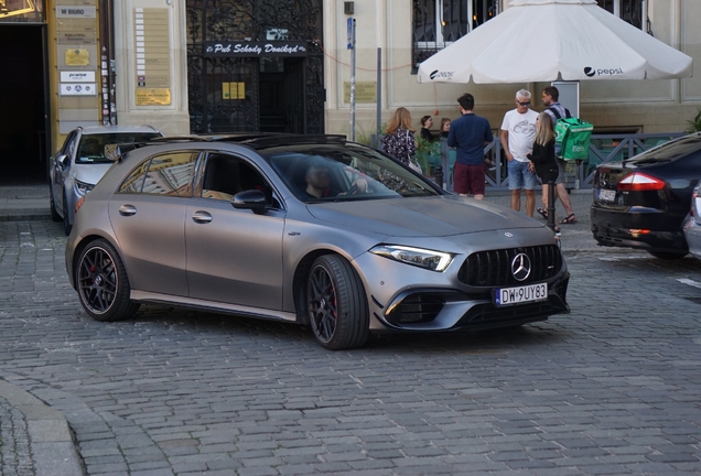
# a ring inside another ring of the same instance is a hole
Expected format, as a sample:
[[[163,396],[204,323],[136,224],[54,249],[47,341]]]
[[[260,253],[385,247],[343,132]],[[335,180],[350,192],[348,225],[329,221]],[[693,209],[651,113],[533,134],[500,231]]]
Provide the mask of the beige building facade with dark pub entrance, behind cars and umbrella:
[[[539,97],[548,84],[418,84],[416,72],[509,1],[0,0],[0,180],[45,180],[47,158],[77,125],[148,123],[166,134],[353,131],[365,141],[378,129],[378,101],[380,125],[403,106],[418,128],[424,115],[457,117],[455,99],[470,91],[496,129],[517,89]],[[699,67],[701,2],[598,4]],[[524,54],[537,61],[527,44]],[[580,97],[580,115],[597,132],[676,132],[701,106],[701,74],[582,82]]]

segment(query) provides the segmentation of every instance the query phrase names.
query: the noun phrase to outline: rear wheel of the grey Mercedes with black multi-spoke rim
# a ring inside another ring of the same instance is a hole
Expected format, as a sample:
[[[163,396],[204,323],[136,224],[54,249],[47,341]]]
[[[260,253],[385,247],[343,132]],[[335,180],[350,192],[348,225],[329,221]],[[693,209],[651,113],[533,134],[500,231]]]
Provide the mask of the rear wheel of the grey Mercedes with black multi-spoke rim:
[[[78,296],[85,312],[96,321],[111,322],[130,317],[139,303],[129,300],[131,288],[119,255],[104,239],[90,242],[75,269]]]

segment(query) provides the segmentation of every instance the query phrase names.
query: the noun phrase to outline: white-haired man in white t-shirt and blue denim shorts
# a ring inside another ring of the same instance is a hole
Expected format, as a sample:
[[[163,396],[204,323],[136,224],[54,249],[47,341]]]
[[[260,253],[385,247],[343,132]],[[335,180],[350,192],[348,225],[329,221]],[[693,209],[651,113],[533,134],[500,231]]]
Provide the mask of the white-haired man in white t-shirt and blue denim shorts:
[[[521,209],[521,188],[526,192],[526,214],[533,216],[536,209],[536,173],[530,170],[526,154],[533,150],[536,118],[538,112],[530,109],[530,91],[516,93],[516,109],[504,115],[502,122],[502,148],[506,156],[511,208]]]

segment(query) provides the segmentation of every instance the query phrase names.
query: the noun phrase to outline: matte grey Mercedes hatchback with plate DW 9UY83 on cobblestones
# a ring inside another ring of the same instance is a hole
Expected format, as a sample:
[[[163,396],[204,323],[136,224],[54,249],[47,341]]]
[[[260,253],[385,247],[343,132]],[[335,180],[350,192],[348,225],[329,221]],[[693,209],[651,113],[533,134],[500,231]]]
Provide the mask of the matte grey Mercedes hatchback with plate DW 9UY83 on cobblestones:
[[[117,150],[78,203],[66,268],[98,321],[163,303],[309,324],[344,349],[376,333],[569,312],[570,274],[546,226],[345,137],[158,142]]]

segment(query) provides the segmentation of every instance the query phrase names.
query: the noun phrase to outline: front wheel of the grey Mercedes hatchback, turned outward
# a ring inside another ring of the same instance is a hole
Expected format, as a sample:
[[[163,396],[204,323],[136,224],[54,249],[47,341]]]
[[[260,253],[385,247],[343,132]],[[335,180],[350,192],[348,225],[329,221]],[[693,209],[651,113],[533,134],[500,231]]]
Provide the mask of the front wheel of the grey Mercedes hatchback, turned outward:
[[[363,282],[350,263],[324,255],[312,264],[306,283],[310,323],[330,350],[363,346],[369,338],[369,310]]]

